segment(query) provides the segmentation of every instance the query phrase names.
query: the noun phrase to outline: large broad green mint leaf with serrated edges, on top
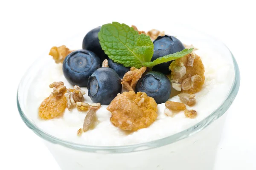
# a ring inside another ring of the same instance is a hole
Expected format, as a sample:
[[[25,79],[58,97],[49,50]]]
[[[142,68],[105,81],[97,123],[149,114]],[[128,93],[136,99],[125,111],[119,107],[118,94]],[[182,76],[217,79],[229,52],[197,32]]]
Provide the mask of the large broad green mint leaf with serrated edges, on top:
[[[154,45],[149,36],[125,24],[105,24],[99,31],[99,43],[105,54],[125,67],[142,67],[153,56]]]

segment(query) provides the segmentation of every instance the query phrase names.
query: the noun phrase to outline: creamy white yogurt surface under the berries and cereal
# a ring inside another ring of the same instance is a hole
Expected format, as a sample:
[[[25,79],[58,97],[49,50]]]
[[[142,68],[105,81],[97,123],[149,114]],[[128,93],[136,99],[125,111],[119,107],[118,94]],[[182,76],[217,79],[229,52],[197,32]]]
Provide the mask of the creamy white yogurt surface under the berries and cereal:
[[[121,146],[138,144],[179,133],[215,111],[227,97],[234,79],[233,63],[226,61],[221,54],[211,51],[210,48],[201,48],[200,46],[196,46],[196,48],[199,48],[199,50],[195,53],[201,57],[205,67],[205,83],[203,89],[195,94],[196,105],[193,107],[186,106],[187,109],[198,112],[195,119],[187,118],[184,111],[175,114],[173,117],[166,116],[164,113],[166,107],[163,103],[157,106],[157,120],[152,125],[135,132],[127,132],[120,130],[111,123],[111,112],[106,110],[108,105],[102,105],[96,111],[96,121],[90,130],[81,136],[77,136],[77,130],[83,127],[87,112],[80,112],[74,108],[72,111],[66,109],[63,117],[57,119],[42,120],[38,117],[38,107],[52,91],[49,88],[50,83],[62,81],[67,88],[73,88],[63,75],[62,64],[55,64],[49,56],[44,56],[49,62],[40,69],[31,82],[26,101],[26,112],[30,114],[30,119],[46,133],[69,142],[86,145]],[[81,89],[86,92],[84,102],[92,103],[90,97],[87,96],[87,88]],[[172,89],[173,92],[174,89]],[[169,101],[180,102],[180,99],[177,95],[171,94]]]

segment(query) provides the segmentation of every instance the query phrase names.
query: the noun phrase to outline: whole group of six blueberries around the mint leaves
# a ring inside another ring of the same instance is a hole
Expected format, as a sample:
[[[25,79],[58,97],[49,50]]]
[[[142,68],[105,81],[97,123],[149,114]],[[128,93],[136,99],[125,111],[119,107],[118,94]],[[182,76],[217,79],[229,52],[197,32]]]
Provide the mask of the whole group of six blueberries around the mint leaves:
[[[82,50],[70,53],[63,62],[63,73],[72,85],[87,87],[88,96],[95,103],[109,105],[122,91],[121,78],[130,70],[122,64],[113,62],[104,53],[99,43],[98,33],[101,27],[88,32],[83,40]],[[173,36],[159,36],[154,40],[152,61],[168,54],[185,49],[184,45]],[[101,68],[104,59],[108,67]],[[135,91],[145,92],[155,99],[157,104],[164,103],[171,94],[171,83],[166,74],[170,74],[169,65],[165,62],[146,72],[138,81]]]

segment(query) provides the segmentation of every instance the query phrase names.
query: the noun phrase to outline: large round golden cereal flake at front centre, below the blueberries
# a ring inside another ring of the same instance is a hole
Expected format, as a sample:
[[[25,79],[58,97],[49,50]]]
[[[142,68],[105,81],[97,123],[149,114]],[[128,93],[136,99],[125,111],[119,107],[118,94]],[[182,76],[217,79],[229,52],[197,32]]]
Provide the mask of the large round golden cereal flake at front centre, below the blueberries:
[[[107,108],[111,122],[122,130],[146,128],[157,119],[157,103],[144,92],[124,92],[117,95]]]

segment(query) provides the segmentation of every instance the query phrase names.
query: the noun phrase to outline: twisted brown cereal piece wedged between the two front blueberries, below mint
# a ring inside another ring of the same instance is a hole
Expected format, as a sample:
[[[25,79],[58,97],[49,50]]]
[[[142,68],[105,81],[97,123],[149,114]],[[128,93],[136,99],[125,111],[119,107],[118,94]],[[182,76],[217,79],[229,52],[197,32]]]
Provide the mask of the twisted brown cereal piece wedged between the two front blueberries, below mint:
[[[121,82],[122,85],[124,85],[124,88],[128,91],[134,91],[137,82],[141,78],[142,74],[145,73],[146,69],[146,67],[141,67],[140,69],[132,67],[131,71],[125,73]]]

